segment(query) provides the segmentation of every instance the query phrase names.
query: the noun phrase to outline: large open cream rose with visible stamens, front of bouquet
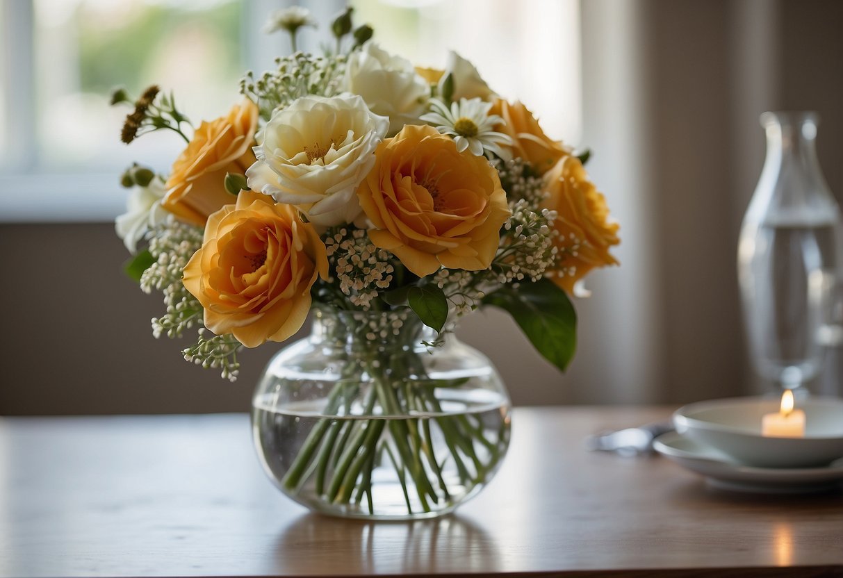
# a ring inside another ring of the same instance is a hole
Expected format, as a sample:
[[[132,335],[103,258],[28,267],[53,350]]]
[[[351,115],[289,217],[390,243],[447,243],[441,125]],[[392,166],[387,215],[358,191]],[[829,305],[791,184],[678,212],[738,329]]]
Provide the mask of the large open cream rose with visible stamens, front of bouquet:
[[[298,206],[315,225],[352,222],[361,212],[357,185],[388,126],[359,96],[303,96],[273,113],[258,134],[249,188]]]

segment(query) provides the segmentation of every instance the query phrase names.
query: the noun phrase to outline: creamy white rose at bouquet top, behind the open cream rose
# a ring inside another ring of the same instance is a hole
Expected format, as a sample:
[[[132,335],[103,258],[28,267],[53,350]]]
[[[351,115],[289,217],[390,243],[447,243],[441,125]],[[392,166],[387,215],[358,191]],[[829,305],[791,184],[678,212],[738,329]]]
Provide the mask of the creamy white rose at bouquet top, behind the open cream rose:
[[[362,96],[376,115],[389,116],[389,135],[404,125],[421,124],[419,116],[430,96],[430,85],[410,61],[371,41],[348,56],[343,88]]]

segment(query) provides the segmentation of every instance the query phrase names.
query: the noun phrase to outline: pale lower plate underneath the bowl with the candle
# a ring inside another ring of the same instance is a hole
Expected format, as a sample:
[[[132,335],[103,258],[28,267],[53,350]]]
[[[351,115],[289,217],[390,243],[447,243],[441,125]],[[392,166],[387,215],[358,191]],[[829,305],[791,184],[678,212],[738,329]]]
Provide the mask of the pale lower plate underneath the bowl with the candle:
[[[822,468],[755,468],[736,463],[713,447],[702,446],[671,431],[658,436],[653,448],[709,483],[726,490],[764,494],[802,494],[841,488],[843,459]]]

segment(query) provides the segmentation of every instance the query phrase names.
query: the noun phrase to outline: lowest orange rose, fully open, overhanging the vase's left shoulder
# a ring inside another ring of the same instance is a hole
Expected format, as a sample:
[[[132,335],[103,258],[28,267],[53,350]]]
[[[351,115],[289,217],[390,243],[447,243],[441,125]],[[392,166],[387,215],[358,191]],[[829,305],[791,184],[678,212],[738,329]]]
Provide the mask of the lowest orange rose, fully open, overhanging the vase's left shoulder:
[[[304,323],[310,287],[328,277],[325,244],[295,207],[249,190],[208,217],[184,284],[205,308],[205,326],[246,347],[283,341]]]

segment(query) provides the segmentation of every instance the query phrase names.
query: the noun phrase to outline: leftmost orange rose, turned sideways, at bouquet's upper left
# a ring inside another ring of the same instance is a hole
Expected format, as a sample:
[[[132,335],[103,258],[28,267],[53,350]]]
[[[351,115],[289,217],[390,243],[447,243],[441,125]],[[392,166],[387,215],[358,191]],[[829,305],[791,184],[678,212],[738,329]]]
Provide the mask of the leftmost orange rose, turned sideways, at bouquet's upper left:
[[[204,225],[208,215],[233,203],[223,184],[225,174],[244,174],[255,162],[257,124],[258,107],[250,100],[235,104],[227,116],[203,120],[173,163],[162,206],[176,217]]]

